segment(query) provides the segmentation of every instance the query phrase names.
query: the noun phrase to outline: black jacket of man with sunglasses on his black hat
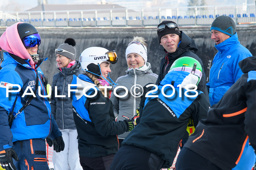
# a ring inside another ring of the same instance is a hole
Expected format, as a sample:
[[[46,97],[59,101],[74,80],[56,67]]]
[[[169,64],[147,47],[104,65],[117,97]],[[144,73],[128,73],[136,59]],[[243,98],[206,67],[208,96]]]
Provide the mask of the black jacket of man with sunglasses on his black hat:
[[[209,101],[209,95],[208,95],[208,90],[206,87],[206,76],[204,74],[204,66],[202,60],[195,54],[198,51],[198,48],[196,46],[196,43],[193,39],[191,39],[189,36],[187,36],[184,32],[181,31],[181,42],[177,48],[177,50],[174,53],[169,53],[166,50],[166,55],[164,58],[161,60],[161,65],[160,65],[160,71],[158,75],[157,82],[155,84],[159,84],[161,80],[165,77],[165,75],[168,73],[170,70],[170,67],[172,66],[173,62],[177,60],[178,58],[188,56],[195,58],[196,60],[199,61],[203,68],[203,75],[202,78],[197,85],[197,89],[202,91],[206,95],[207,101]]]

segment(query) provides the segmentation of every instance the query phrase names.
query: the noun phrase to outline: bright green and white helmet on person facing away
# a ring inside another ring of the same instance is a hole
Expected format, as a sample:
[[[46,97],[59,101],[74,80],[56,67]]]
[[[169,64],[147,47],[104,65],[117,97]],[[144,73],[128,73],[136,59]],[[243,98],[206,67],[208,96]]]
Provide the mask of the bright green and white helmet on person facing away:
[[[202,78],[202,66],[196,59],[192,57],[181,57],[175,60],[170,68],[170,71],[184,71],[189,75],[185,77],[182,85],[195,84],[197,85]]]

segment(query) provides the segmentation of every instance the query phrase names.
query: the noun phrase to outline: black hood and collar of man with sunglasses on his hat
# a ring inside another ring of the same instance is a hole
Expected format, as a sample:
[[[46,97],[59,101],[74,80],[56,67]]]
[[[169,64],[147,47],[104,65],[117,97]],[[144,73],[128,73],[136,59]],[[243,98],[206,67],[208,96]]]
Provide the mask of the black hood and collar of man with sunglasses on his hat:
[[[169,55],[178,56],[182,54],[184,51],[192,51],[196,53],[198,51],[198,48],[196,46],[195,40],[191,39],[189,36],[187,36],[184,32],[181,32],[181,41],[178,45],[177,50],[174,53],[167,53]],[[167,52],[166,50],[164,50]]]

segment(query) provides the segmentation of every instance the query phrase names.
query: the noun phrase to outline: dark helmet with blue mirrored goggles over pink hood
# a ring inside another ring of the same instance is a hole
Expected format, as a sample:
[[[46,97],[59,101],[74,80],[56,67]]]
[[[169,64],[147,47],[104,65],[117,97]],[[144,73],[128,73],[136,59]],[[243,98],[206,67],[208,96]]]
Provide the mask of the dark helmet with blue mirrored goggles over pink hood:
[[[26,48],[35,47],[41,44],[41,37],[37,29],[29,23],[17,25],[19,37]]]

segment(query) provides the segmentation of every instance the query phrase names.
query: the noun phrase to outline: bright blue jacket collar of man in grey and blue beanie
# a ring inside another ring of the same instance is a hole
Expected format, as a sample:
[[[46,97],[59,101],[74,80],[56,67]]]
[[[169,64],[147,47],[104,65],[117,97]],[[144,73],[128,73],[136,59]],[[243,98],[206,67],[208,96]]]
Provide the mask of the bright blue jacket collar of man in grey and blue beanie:
[[[233,36],[229,37],[222,43],[219,43],[218,45],[215,44],[215,48],[219,52],[227,51],[233,46],[234,44],[239,44],[237,33],[235,33]]]

